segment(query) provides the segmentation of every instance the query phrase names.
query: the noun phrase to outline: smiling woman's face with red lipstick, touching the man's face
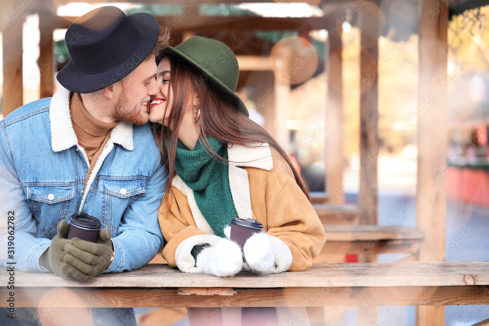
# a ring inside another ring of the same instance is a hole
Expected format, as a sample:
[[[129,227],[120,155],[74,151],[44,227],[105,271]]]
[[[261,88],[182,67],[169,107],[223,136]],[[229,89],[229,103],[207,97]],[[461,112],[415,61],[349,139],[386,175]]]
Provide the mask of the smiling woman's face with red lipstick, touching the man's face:
[[[156,85],[158,86],[158,93],[151,99],[150,106],[150,121],[160,123],[167,126],[165,117],[170,115],[170,109],[172,107],[172,92],[170,90],[170,60],[163,58],[158,65],[158,75],[156,79]],[[168,106],[166,116],[165,108]]]

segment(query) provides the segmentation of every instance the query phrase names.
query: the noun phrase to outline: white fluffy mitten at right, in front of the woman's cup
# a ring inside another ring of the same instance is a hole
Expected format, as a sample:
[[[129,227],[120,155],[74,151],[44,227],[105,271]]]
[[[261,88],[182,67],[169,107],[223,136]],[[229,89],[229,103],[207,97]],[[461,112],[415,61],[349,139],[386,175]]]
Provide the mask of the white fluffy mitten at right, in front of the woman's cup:
[[[256,274],[281,273],[292,264],[292,253],[282,240],[267,233],[257,233],[243,246],[244,261]]]

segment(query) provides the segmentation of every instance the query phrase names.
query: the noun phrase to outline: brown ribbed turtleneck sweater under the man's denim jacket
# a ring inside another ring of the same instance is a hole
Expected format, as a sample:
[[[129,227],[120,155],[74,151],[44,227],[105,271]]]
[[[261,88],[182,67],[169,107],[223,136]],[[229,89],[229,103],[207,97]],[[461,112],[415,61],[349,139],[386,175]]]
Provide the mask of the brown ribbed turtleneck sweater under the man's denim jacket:
[[[85,187],[87,187],[87,181],[98,156],[104,149],[107,140],[109,140],[112,128],[117,126],[119,121],[107,123],[92,117],[83,105],[82,97],[79,93],[73,93],[69,103],[69,111],[78,144],[85,149],[90,162],[89,171],[85,177]]]

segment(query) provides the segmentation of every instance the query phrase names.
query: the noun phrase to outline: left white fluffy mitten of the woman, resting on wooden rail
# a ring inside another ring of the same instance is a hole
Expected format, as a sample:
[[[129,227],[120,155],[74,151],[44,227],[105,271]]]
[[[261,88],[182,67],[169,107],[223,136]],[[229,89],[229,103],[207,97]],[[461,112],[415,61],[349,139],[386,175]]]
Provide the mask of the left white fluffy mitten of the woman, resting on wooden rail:
[[[220,238],[197,255],[196,266],[205,274],[226,277],[238,274],[243,267],[240,246],[231,240]]]

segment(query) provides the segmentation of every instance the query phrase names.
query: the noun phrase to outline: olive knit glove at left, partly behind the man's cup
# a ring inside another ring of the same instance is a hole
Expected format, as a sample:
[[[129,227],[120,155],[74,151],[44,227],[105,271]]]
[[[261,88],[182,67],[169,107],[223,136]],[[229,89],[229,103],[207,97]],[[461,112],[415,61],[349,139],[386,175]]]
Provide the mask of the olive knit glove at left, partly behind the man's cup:
[[[51,240],[51,245],[46,251],[44,267],[54,274],[69,280],[67,275],[61,272],[61,267],[65,264],[65,246],[70,242],[68,237],[68,223],[62,220],[58,223],[58,234]]]

